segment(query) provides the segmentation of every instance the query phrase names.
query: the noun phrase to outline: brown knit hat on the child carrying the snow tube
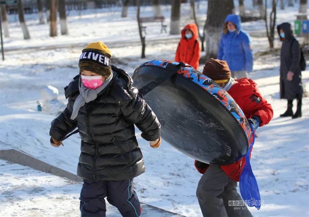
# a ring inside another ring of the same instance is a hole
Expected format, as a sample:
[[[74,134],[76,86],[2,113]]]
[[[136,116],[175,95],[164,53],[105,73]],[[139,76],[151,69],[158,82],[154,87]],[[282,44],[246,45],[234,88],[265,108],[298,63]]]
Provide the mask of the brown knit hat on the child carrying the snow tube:
[[[208,60],[205,63],[203,74],[217,83],[227,82],[226,80],[231,78],[231,70],[226,61],[219,59]]]

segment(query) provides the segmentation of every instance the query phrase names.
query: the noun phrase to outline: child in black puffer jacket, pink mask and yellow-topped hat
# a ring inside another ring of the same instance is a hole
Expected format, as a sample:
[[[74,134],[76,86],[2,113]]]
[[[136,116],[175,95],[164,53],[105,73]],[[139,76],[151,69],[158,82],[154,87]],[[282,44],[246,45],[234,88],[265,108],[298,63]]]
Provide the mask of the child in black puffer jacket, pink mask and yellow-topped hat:
[[[51,124],[51,145],[59,147],[76,127],[81,137],[77,174],[84,184],[80,195],[83,217],[105,216],[106,204],[122,216],[140,216],[133,178],[145,172],[134,125],[152,148],[161,144],[160,123],[132,86],[124,70],[111,65],[111,52],[102,42],[82,51],[79,75],[65,88],[68,104]]]

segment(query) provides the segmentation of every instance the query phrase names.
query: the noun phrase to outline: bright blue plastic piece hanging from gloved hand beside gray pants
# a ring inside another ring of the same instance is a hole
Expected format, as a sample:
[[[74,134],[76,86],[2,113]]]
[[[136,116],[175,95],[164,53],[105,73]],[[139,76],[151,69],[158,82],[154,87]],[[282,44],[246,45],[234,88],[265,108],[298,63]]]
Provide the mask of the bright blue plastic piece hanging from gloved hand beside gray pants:
[[[251,133],[253,134],[253,141],[250,144],[250,147],[246,154],[246,164],[243,167],[243,171],[239,178],[239,190],[240,190],[240,194],[244,202],[249,207],[256,207],[259,210],[261,207],[260,191],[259,191],[259,186],[257,185],[257,182],[256,182],[256,178],[252,172],[252,168],[250,165],[250,159],[249,159],[250,150],[252,149],[252,146],[255,140],[254,129],[253,129],[252,124],[250,124],[250,127],[251,127]]]

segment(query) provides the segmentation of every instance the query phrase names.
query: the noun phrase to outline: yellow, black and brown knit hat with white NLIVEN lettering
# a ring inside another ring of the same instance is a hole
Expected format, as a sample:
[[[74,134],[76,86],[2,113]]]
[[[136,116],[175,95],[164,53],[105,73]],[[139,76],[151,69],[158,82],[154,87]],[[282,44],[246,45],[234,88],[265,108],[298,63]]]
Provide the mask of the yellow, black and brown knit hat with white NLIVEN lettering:
[[[111,51],[104,43],[91,42],[79,57],[79,74],[87,70],[109,78],[112,75],[111,57]]]

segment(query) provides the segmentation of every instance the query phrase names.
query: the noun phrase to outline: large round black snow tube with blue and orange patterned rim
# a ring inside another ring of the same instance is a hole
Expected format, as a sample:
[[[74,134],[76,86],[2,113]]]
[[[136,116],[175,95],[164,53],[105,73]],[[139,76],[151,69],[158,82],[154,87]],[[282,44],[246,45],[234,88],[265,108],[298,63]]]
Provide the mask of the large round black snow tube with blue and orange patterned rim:
[[[155,59],[140,65],[132,76],[134,87],[143,89],[163,74],[173,74],[143,96],[161,123],[162,138],[204,163],[236,162],[251,140],[242,110],[213,80],[189,65],[177,65]]]

